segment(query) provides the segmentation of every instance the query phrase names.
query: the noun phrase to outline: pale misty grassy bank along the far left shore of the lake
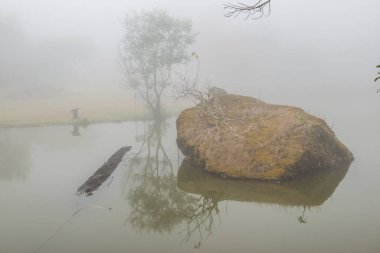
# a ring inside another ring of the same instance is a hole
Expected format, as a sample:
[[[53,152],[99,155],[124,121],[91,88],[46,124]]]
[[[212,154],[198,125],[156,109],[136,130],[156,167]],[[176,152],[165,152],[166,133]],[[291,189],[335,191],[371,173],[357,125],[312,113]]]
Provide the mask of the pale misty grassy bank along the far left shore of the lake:
[[[70,112],[79,108],[79,119]],[[177,115],[186,106],[165,106],[166,114]],[[58,97],[0,101],[0,128],[41,127],[50,125],[97,124],[149,120],[143,101],[129,93],[86,93]]]

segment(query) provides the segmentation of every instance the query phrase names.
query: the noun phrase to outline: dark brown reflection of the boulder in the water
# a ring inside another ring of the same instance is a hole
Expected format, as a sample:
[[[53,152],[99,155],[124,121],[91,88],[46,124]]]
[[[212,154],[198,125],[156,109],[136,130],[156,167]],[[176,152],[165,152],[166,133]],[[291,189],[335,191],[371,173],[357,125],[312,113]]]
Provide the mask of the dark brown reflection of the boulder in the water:
[[[178,171],[178,187],[188,193],[282,206],[320,206],[343,180],[348,167],[304,175],[285,183],[240,181],[216,177],[184,160]]]

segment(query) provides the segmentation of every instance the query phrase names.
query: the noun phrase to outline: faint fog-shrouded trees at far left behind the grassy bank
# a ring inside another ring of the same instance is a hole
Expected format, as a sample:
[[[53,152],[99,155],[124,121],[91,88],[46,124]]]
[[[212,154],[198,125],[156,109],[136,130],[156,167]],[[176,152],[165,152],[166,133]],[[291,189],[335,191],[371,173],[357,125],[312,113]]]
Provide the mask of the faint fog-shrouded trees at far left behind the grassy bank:
[[[49,95],[94,83],[92,44],[76,36],[31,40],[17,16],[0,13],[0,89]],[[12,92],[11,97],[18,96]]]

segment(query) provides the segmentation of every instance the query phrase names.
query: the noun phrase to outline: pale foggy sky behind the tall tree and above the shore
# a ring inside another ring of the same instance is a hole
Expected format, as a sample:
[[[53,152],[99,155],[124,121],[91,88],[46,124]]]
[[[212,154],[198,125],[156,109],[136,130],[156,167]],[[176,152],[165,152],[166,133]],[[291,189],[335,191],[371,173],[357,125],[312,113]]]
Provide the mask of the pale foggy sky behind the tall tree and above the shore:
[[[378,0],[273,0],[271,15],[259,20],[225,18],[224,3],[1,0],[0,82],[118,89],[123,17],[160,8],[192,19],[198,36],[190,50],[200,57],[205,83],[264,97],[294,87],[373,88]]]

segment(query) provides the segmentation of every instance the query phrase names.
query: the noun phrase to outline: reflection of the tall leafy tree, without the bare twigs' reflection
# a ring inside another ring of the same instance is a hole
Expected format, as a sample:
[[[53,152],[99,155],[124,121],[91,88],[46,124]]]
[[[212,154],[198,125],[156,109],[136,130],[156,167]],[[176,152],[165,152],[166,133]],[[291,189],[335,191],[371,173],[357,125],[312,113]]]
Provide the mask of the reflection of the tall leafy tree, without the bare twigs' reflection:
[[[186,201],[176,192],[173,166],[162,145],[165,121],[154,121],[144,133],[138,152],[130,159],[132,187],[127,198],[132,207],[128,221],[138,230],[171,231],[180,222]]]

